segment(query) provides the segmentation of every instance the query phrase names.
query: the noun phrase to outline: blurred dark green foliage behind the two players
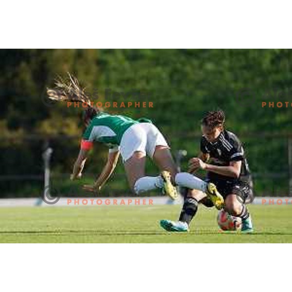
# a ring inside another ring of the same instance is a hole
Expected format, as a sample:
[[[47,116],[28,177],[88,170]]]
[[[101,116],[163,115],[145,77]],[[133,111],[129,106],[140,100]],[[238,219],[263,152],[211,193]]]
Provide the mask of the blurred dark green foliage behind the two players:
[[[43,188],[45,146],[54,149],[52,184],[62,195],[80,194],[105,163],[107,149],[97,145],[84,179],[69,174],[84,130],[82,109],[46,106],[47,86],[57,74],[75,74],[98,101],[151,101],[153,108],[107,109],[132,118],[148,117],[175,153],[197,155],[200,120],[222,109],[226,128],[242,140],[254,173],[257,195],[288,195],[288,135],[292,127],[292,50],[55,49],[0,50],[0,197],[39,196]],[[105,91],[113,96],[106,100]],[[143,96],[125,94],[138,91]],[[111,100],[109,100],[111,99]],[[274,101],[274,108],[262,102]],[[289,102],[277,108],[276,102]],[[157,173],[150,162],[149,174]],[[129,194],[119,163],[102,195]]]

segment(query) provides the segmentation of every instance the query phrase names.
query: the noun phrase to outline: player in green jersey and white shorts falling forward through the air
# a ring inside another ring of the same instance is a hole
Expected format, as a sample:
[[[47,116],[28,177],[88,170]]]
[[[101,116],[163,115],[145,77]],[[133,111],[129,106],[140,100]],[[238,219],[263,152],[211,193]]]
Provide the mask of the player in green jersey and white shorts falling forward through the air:
[[[76,78],[69,74],[69,81],[56,81],[55,89],[48,89],[49,98],[58,101],[79,101],[88,105],[84,123],[87,126],[79,155],[73,166],[71,180],[81,178],[89,150],[94,142],[109,146],[108,161],[93,185],[85,185],[89,191],[99,191],[112,174],[121,154],[128,183],[135,194],[152,189],[164,189],[173,200],[178,197],[174,184],[199,189],[208,194],[217,208],[222,208],[223,198],[213,183],[205,183],[189,173],[177,173],[170,148],[164,136],[150,120],[133,120],[124,115],[111,115],[92,107],[89,97],[79,86]],[[161,170],[155,177],[145,175],[146,156]]]

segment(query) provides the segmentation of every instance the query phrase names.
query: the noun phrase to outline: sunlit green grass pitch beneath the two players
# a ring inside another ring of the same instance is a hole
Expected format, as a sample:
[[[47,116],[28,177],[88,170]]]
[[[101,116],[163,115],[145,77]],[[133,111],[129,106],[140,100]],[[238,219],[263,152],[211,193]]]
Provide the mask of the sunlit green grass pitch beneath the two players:
[[[0,208],[0,242],[292,242],[292,205],[250,206],[255,232],[219,232],[217,211],[200,206],[189,233],[167,233],[160,219],[181,206]]]

